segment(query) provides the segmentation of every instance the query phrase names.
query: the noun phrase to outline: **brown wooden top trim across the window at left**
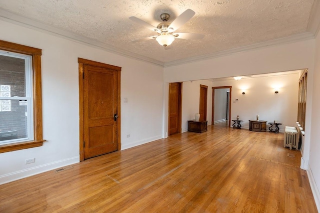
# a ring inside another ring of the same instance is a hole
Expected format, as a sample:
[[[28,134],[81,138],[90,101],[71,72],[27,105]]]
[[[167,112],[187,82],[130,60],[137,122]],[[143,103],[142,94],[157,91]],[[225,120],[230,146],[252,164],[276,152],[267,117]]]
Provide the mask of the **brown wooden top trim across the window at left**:
[[[26,55],[41,55],[42,50],[30,46],[0,40],[0,49]]]

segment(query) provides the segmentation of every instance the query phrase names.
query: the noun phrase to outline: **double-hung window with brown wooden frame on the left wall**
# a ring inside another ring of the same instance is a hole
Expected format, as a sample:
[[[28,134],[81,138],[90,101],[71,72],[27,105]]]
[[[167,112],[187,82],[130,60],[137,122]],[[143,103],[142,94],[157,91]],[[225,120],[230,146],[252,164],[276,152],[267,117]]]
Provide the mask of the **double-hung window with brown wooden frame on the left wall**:
[[[41,49],[0,40],[0,153],[43,141]]]

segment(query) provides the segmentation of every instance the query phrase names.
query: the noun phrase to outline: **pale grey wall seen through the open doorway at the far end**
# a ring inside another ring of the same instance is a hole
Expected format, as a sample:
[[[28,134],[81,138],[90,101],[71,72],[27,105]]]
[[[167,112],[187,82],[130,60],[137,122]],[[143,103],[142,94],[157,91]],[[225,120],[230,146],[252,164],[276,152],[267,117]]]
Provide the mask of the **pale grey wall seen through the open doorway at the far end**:
[[[213,84],[214,85],[214,84]],[[229,91],[228,88],[221,88],[214,90],[214,121],[213,123],[218,123],[225,121],[226,115],[226,92]]]

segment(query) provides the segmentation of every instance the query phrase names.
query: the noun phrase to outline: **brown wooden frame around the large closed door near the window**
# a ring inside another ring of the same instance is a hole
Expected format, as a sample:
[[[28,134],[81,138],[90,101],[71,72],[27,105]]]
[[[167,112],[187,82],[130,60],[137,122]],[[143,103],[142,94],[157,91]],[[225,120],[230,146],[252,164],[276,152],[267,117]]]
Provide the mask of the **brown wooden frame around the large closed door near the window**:
[[[121,116],[120,116],[120,103],[121,103],[121,97],[120,97],[120,77],[121,77],[121,67],[113,66],[109,64],[104,64],[96,61],[91,61],[83,58],[78,58],[78,64],[79,64],[79,160],[84,161],[84,106],[83,106],[83,65],[91,65],[101,68],[107,68],[112,69],[117,72],[117,151],[121,150],[121,138],[120,138],[120,127],[121,127]]]

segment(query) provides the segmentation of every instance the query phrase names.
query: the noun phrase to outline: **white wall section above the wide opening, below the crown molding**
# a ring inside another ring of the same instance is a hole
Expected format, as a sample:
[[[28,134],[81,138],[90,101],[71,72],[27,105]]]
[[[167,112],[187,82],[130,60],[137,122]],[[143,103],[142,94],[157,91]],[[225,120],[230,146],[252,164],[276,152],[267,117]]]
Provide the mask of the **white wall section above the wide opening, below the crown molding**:
[[[309,68],[313,72],[314,41],[269,46],[164,68],[164,82],[265,74]]]

